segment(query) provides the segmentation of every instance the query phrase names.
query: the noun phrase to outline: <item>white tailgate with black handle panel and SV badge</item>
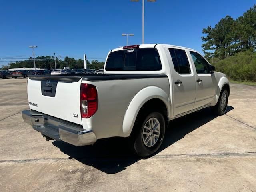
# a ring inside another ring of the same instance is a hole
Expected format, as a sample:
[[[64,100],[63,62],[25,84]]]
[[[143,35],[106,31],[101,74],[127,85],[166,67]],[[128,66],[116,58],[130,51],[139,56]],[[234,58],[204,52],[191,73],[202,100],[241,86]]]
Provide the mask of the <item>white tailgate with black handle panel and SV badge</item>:
[[[77,76],[29,76],[30,109],[82,125],[80,84]]]

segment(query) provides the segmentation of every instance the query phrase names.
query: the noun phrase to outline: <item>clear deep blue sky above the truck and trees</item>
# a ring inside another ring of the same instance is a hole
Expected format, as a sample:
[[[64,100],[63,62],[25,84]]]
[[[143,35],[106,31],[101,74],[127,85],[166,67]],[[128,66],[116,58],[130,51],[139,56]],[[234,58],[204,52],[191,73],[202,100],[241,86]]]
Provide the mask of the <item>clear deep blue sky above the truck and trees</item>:
[[[166,43],[201,51],[202,28],[233,18],[256,0],[156,0],[146,2],[145,43]],[[0,0],[0,58],[36,55],[105,58],[126,45],[122,33],[142,41],[142,0]],[[98,59],[102,61],[101,59]],[[0,65],[6,64],[0,62]]]

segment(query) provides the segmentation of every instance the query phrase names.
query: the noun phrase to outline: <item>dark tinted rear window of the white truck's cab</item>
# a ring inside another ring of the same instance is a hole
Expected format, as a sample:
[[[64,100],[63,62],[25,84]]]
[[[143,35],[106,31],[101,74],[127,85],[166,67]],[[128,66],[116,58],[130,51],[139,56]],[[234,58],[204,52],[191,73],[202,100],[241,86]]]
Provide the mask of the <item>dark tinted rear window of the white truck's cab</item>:
[[[106,71],[158,71],[162,69],[156,48],[132,48],[111,52]]]

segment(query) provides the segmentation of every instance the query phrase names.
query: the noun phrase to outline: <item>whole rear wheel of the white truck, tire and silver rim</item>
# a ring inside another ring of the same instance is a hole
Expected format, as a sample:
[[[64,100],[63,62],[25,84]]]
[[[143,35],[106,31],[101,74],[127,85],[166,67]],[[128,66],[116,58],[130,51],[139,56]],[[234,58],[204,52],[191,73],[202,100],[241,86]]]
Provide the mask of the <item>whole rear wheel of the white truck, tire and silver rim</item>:
[[[161,146],[166,128],[164,116],[160,112],[151,112],[140,116],[134,126],[134,151],[138,156],[154,154]]]

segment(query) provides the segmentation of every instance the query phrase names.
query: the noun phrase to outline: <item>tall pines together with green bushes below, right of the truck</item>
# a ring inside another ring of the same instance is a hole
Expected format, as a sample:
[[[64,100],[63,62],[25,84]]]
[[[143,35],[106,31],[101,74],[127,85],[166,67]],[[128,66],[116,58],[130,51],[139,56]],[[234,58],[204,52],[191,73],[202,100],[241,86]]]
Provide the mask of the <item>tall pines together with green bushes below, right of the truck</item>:
[[[231,80],[256,82],[256,5],[236,20],[226,16],[202,32],[205,57],[217,71]]]

